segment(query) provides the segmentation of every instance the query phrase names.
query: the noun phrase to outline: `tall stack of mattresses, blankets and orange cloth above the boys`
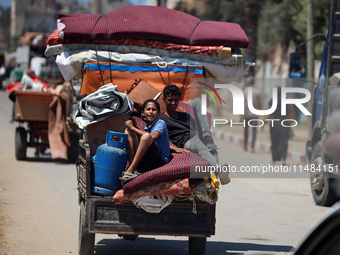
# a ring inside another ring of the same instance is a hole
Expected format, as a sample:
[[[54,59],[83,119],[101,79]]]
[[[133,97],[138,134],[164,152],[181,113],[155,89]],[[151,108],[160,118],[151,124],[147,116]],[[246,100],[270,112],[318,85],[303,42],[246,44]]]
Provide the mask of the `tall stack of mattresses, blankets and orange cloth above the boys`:
[[[189,89],[191,78],[243,77],[240,48],[249,42],[235,23],[156,6],[59,14],[57,22],[45,55],[57,56],[66,81],[82,79],[81,94],[110,82],[125,92],[135,79],[162,90],[168,84]]]

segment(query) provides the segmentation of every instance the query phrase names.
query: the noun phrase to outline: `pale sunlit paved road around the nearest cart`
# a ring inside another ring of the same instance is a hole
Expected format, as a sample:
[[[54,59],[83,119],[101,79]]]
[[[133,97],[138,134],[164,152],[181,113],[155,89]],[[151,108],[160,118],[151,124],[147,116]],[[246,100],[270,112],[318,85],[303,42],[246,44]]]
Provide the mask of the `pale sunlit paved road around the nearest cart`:
[[[49,155],[35,158],[33,149],[28,150],[27,161],[17,162],[17,124],[9,123],[10,110],[1,91],[0,254],[77,254],[75,167],[53,162]],[[239,168],[270,162],[269,154],[246,153],[239,146],[217,143],[221,163]],[[314,205],[307,175],[245,177],[250,175],[235,175],[220,189],[216,235],[208,239],[207,255],[288,254],[327,210]],[[142,236],[130,242],[97,235],[95,251],[101,255],[187,254],[187,238]]]

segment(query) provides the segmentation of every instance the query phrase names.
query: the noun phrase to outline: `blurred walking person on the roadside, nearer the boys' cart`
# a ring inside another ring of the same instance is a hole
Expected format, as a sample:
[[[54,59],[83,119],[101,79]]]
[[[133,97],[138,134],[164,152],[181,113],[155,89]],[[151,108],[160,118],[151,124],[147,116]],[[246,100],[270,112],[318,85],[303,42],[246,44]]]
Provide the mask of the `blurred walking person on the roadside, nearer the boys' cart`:
[[[254,76],[249,76],[246,80],[247,87],[252,88],[252,97],[253,97],[253,106],[257,110],[262,109],[262,98],[261,92],[255,88],[255,79]],[[246,88],[244,91],[245,97],[248,97],[248,89]],[[258,116],[253,114],[248,108],[248,100],[244,100],[244,145],[243,148],[245,151],[248,150],[248,134],[249,134],[249,120],[257,119]],[[255,142],[256,142],[256,131],[257,131],[257,121],[251,121],[252,125],[252,139],[251,139],[251,152],[255,152]]]

